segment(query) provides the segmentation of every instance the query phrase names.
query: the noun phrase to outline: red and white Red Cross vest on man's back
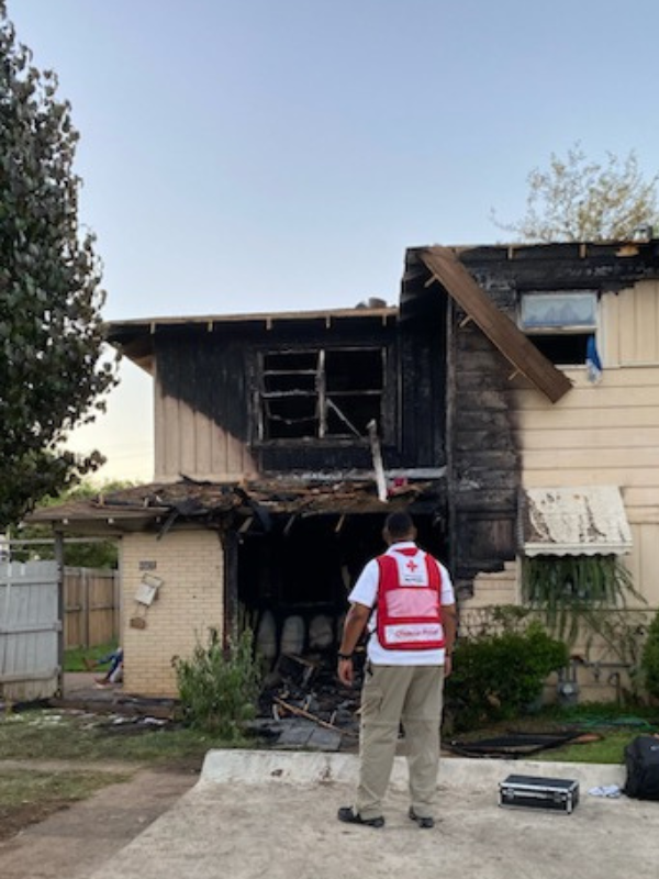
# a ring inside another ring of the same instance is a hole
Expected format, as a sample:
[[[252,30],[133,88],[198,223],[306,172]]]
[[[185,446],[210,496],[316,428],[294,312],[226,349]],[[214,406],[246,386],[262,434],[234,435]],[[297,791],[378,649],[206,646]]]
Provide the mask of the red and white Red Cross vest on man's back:
[[[444,647],[442,576],[427,553],[406,547],[378,557],[378,641],[389,650]]]

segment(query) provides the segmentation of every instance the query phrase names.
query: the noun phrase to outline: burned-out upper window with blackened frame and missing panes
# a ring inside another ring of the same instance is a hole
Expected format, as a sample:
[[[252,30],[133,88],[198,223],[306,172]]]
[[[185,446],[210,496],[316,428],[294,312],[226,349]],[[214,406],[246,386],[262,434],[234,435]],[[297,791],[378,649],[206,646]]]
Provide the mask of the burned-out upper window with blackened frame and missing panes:
[[[279,351],[261,355],[259,438],[366,436],[381,423],[382,348]]]

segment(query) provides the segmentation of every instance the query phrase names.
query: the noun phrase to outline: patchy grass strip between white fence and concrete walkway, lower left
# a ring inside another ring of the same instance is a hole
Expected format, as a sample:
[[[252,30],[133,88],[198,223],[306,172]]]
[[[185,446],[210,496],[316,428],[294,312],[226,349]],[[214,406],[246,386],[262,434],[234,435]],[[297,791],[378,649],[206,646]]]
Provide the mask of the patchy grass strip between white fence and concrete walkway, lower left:
[[[0,715],[1,716],[1,715]],[[136,764],[201,765],[208,750],[227,743],[194,730],[175,726],[134,731],[112,719],[55,710],[33,710],[0,719],[0,759],[123,760]],[[254,743],[231,743],[250,747]]]

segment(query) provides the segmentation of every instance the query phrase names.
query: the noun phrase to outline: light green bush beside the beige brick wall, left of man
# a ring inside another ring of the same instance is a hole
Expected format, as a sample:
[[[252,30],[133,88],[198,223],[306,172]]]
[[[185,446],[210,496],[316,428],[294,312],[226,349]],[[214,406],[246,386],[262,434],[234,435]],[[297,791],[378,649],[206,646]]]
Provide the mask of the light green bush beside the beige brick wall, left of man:
[[[245,630],[236,644],[224,648],[216,630],[208,645],[197,644],[191,659],[175,657],[185,721],[226,741],[241,737],[243,725],[256,713],[260,674],[254,658],[253,634]]]

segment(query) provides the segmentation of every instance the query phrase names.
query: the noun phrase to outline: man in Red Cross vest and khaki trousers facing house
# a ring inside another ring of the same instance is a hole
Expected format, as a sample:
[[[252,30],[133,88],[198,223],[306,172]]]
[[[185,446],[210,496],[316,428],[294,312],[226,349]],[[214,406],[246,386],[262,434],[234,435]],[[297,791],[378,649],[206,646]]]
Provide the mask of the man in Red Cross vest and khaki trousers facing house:
[[[339,809],[338,820],[384,826],[382,799],[402,723],[409,815],[429,828],[435,824],[442,690],[456,637],[455,596],[446,568],[416,546],[416,528],[407,513],[391,513],[382,536],[388,550],[366,565],[348,597],[338,653],[338,677],[350,686],[353,653],[368,626],[359,785],[355,804]]]

